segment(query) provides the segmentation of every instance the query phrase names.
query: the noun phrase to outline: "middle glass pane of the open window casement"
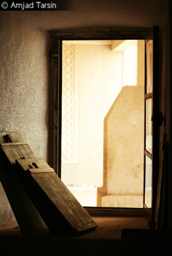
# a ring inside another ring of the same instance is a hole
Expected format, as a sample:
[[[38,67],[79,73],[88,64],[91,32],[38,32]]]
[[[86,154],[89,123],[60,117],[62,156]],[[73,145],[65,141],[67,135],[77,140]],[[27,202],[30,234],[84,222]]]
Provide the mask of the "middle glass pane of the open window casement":
[[[152,154],[152,98],[146,100],[146,150]]]

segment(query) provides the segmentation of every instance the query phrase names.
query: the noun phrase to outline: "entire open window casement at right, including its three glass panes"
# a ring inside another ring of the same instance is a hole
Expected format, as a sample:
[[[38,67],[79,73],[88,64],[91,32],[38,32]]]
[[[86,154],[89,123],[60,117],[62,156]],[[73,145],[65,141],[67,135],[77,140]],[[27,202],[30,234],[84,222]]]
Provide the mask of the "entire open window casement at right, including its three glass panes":
[[[145,39],[145,124],[143,208],[154,220],[159,163],[159,27]]]

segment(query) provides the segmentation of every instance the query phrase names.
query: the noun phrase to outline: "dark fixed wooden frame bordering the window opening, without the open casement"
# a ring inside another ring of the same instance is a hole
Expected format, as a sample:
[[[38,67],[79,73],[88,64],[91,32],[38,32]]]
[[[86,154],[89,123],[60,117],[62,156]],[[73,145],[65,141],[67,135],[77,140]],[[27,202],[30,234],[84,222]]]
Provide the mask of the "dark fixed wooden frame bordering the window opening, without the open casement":
[[[149,31],[53,31],[51,32],[52,167],[61,178],[62,130],[62,41],[63,40],[145,40]],[[144,152],[143,152],[144,153]],[[89,214],[144,215],[143,208],[85,207]]]

